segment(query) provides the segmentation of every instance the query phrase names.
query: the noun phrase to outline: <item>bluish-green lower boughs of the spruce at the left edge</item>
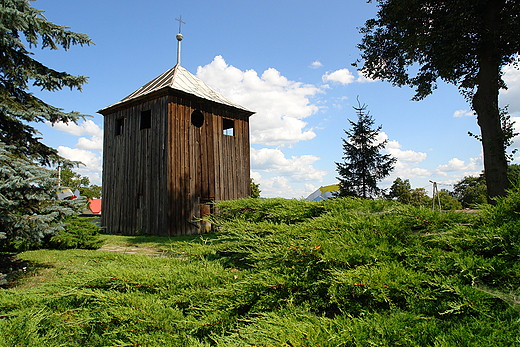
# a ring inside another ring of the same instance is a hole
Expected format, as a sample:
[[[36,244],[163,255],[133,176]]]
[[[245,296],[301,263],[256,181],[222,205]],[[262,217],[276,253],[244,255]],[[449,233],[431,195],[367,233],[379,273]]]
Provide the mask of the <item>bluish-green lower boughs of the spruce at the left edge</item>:
[[[0,142],[1,246],[28,249],[63,230],[63,218],[75,211],[69,201],[58,200],[53,171],[13,155],[11,149]]]

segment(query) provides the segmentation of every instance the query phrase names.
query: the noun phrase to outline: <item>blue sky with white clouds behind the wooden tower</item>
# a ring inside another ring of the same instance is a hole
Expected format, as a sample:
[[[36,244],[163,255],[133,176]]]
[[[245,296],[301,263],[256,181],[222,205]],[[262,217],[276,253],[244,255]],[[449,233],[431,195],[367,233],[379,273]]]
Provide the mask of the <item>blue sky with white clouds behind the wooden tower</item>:
[[[78,169],[101,184],[103,117],[113,104],[176,63],[182,15],[181,65],[256,114],[251,117],[251,176],[262,196],[301,198],[336,182],[344,129],[356,120],[357,97],[382,125],[396,177],[413,188],[440,188],[482,170],[475,116],[456,87],[439,83],[423,101],[413,90],[368,81],[351,66],[359,58],[358,28],[376,13],[365,0],[177,1],[38,0],[52,22],[96,43],[35,57],[58,71],[89,76],[82,92],[35,94],[66,111],[91,115],[78,125],[38,125],[43,142],[85,163]],[[506,67],[513,119],[520,117],[520,73]],[[513,147],[518,147],[520,140]],[[518,162],[518,159],[515,160]]]

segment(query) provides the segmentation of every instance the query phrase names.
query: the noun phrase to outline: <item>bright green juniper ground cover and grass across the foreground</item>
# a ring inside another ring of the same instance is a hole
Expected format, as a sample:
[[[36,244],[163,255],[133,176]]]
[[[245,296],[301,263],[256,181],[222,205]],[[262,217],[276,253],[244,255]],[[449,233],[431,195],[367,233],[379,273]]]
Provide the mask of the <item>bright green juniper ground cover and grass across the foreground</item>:
[[[20,254],[2,346],[520,345],[520,194],[479,214],[221,202],[219,232]],[[33,269],[33,270],[31,270]]]

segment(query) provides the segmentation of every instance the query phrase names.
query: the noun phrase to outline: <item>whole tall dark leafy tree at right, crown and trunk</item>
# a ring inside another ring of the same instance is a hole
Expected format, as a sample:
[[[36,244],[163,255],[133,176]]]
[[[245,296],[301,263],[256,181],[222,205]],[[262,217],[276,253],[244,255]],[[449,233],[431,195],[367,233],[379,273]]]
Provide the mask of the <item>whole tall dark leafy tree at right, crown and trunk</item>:
[[[518,2],[378,0],[377,5],[376,18],[360,29],[361,71],[415,88],[415,100],[433,93],[439,80],[456,85],[477,114],[488,194],[505,195],[505,149],[515,132],[507,110],[498,107],[498,95],[506,88],[503,67],[518,67]]]

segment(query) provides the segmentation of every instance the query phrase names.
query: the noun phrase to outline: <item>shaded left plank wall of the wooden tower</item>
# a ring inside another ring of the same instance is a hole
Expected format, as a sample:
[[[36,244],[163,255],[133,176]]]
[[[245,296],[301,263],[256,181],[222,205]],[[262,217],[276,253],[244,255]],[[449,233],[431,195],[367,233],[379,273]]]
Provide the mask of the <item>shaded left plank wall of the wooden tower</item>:
[[[167,234],[165,97],[105,116],[103,224],[110,233]],[[152,128],[140,129],[141,112],[151,110]],[[116,135],[118,119],[123,133]],[[154,211],[151,213],[151,211]]]

